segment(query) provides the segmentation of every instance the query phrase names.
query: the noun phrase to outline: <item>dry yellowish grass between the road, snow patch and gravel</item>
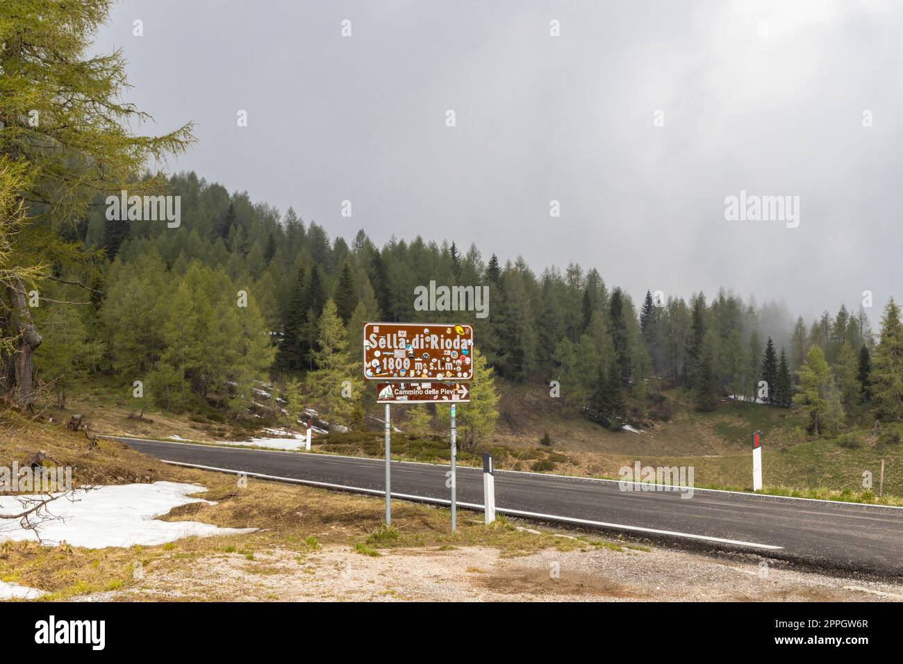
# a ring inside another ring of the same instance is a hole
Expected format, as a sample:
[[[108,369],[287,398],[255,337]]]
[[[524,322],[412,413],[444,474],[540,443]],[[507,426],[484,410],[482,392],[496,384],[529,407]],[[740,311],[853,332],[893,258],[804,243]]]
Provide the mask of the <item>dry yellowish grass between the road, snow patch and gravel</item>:
[[[168,473],[160,479],[199,482],[208,488],[199,496],[216,501],[215,505],[183,505],[164,520],[191,519],[259,530],[247,535],[184,538],[157,547],[87,549],[5,542],[0,545],[0,578],[51,593],[46,599],[63,600],[79,594],[140,588],[143,582],[135,575],[136,568],[144,574],[190,570],[193,561],[209,556],[245,556],[249,572],[265,575],[265,564],[253,564],[258,556],[291,551],[303,562],[323,545],[340,545],[349,551],[357,548],[368,556],[396,547],[487,546],[498,548],[502,556],[523,556],[547,547],[587,547],[579,540],[519,531],[507,521],[486,527],[467,512],[461,512],[458,531],[452,535],[448,510],[400,501],[394,503],[393,528],[385,528],[383,503],[378,499],[253,479],[246,488],[238,488],[235,478],[228,475],[169,466],[164,470]],[[269,573],[275,573],[275,569],[269,569]],[[221,596],[195,594],[190,598]]]

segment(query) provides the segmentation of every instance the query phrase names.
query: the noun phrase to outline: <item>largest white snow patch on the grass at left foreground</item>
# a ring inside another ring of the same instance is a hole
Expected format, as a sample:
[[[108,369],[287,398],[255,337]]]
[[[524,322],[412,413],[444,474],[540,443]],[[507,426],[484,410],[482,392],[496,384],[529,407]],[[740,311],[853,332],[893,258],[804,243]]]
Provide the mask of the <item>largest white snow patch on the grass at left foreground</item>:
[[[256,530],[157,519],[172,508],[191,502],[214,504],[188,495],[200,491],[206,490],[197,484],[179,482],[111,485],[93,491],[79,489],[72,496],[48,503],[51,518],[39,526],[41,539],[53,546],[65,541],[73,547],[154,547],[191,536],[208,538]],[[19,508],[14,496],[0,496],[0,512],[14,512]],[[37,541],[38,535],[22,528],[19,519],[0,519],[0,541],[5,540]]]

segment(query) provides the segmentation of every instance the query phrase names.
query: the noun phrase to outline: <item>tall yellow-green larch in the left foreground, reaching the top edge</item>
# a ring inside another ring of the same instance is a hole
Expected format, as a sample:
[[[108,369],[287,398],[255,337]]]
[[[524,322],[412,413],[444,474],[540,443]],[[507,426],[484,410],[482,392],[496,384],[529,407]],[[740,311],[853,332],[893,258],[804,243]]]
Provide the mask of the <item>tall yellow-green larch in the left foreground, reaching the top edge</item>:
[[[163,176],[144,177],[144,170],[193,140],[190,124],[163,136],[134,133],[150,117],[121,101],[128,85],[121,52],[88,55],[112,4],[0,3],[0,160],[23,168],[15,201],[32,218],[14,223],[0,251],[8,252],[8,267],[33,269],[33,276],[51,276],[51,262],[84,266],[80,242],[65,241],[61,225],[82,219],[98,194],[163,191]],[[21,406],[33,402],[33,353],[42,342],[26,283],[9,272],[2,294],[3,335],[15,340],[0,358],[2,387]]]

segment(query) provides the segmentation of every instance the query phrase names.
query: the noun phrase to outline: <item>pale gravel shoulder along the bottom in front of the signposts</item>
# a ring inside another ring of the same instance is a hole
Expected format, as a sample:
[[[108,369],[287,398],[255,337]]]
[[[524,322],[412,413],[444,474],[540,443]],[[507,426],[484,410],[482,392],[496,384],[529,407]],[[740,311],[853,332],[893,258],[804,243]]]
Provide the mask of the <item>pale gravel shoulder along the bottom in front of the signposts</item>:
[[[87,601],[848,602],[903,601],[903,583],[820,575],[754,560],[655,548],[395,548],[378,556],[322,547],[218,554],[146,570],[142,583]]]

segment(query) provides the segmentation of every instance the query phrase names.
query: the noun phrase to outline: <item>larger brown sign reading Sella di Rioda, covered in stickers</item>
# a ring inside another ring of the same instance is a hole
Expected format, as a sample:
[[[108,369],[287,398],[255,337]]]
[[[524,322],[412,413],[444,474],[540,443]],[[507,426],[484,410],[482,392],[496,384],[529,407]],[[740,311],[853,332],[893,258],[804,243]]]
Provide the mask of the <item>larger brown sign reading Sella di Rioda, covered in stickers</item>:
[[[473,328],[433,323],[364,323],[364,378],[473,379]]]

